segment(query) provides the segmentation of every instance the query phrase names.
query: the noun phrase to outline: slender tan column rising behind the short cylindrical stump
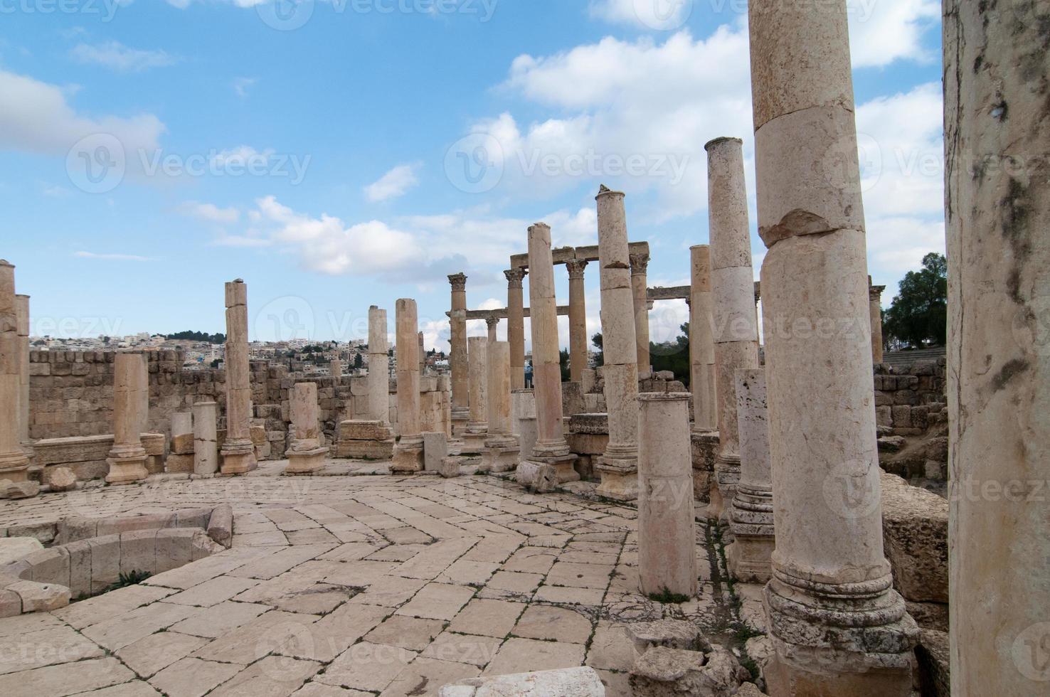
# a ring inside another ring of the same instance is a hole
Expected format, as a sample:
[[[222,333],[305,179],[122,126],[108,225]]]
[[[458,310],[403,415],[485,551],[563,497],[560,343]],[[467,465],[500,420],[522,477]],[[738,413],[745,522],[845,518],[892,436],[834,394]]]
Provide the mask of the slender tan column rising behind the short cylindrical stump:
[[[690,386],[693,393],[693,432],[718,428],[715,389],[714,305],[711,297],[711,248],[690,248],[692,286],[689,301]]]

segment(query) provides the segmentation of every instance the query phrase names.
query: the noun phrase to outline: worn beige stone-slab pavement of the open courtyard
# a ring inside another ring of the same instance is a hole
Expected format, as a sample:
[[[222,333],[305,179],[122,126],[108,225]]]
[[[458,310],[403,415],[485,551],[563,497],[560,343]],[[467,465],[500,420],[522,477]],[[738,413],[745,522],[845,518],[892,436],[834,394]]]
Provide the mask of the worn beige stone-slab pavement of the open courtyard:
[[[278,477],[282,465],[0,503],[9,534],[69,514],[234,508],[232,549],[0,619],[0,695],[416,696],[580,664],[630,695],[624,624],[687,618],[738,646],[753,633],[741,617],[760,621],[756,587],[726,583],[702,524],[699,598],[664,605],[637,594],[633,508],[495,477]]]

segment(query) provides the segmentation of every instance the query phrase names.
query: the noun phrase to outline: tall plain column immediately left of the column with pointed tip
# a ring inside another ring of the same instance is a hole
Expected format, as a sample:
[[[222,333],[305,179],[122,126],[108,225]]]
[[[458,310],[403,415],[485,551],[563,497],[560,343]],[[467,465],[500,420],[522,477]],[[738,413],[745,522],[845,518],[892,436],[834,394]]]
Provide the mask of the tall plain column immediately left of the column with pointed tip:
[[[558,352],[558,302],[550,227],[537,223],[528,229],[529,307],[532,325],[532,383],[536,393],[537,441],[530,462],[554,468],[559,482],[574,482],[576,457],[569,452],[562,424],[562,368]]]

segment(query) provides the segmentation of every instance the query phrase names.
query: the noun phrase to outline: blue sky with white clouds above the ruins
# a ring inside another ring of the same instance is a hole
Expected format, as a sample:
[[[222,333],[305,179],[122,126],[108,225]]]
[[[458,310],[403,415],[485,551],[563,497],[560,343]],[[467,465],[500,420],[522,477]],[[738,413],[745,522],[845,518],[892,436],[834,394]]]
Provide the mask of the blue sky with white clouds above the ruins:
[[[223,331],[242,277],[253,338],[359,338],[370,304],[415,297],[447,348],[444,276],[504,305],[527,225],[596,240],[601,183],[627,192],[650,284],[686,283],[719,135],[744,139],[755,228],[740,0],[282,2],[0,1],[0,255],[35,333]],[[944,248],[940,4],[849,7],[888,304]],[[653,339],[686,314],[659,303]]]

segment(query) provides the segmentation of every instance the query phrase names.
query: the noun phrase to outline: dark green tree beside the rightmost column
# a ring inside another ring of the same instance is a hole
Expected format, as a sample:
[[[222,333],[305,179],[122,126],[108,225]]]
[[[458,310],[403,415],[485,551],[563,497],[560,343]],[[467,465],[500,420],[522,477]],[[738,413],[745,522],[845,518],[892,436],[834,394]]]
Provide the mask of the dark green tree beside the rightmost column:
[[[948,334],[948,262],[930,252],[920,271],[909,271],[889,310],[883,313],[887,345],[922,348],[944,345]]]

